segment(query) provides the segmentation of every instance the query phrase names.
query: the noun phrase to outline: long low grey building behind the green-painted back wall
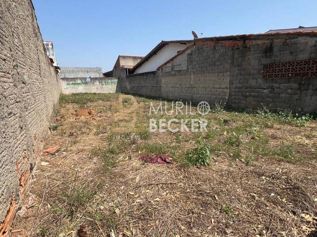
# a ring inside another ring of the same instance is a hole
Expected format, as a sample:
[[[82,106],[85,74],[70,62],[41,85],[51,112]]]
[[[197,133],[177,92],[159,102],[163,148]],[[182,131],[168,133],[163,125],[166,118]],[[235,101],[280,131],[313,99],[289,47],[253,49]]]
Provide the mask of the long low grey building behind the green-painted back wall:
[[[102,78],[102,68],[66,68],[61,67],[60,78]]]

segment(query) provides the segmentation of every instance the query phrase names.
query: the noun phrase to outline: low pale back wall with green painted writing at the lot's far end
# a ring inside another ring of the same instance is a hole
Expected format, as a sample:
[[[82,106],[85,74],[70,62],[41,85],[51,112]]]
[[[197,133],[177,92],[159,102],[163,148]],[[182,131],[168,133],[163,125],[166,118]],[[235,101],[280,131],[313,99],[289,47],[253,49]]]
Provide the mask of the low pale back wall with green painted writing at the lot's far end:
[[[115,93],[120,92],[117,87],[118,78],[61,78],[63,94],[73,93]]]

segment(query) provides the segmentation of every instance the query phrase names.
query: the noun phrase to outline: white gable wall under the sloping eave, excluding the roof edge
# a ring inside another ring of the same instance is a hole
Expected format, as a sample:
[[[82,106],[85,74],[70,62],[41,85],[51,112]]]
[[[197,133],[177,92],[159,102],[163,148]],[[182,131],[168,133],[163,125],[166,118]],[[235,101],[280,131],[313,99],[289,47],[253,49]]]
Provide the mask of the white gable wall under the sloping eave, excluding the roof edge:
[[[171,57],[175,56],[178,51],[188,47],[190,44],[192,43],[169,43],[165,45],[159,50],[159,52],[157,52],[157,54],[153,55],[148,61],[138,67],[135,70],[135,74],[156,71],[160,65],[162,65]]]

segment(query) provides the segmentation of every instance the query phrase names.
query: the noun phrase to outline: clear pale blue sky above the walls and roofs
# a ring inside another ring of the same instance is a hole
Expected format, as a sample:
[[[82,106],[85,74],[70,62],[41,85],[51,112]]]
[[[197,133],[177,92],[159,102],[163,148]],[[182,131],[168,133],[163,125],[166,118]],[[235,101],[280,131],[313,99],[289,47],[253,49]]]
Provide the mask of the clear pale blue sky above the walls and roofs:
[[[112,70],[161,40],[317,26],[317,0],[32,0],[60,67]]]

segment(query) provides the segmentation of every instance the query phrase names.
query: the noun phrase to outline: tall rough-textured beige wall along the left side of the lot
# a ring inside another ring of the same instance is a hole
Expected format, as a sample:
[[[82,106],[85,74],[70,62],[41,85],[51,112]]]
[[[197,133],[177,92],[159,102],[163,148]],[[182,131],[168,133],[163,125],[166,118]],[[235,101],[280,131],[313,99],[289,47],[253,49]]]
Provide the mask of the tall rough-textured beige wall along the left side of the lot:
[[[0,1],[0,237],[21,205],[61,91],[30,0]]]

